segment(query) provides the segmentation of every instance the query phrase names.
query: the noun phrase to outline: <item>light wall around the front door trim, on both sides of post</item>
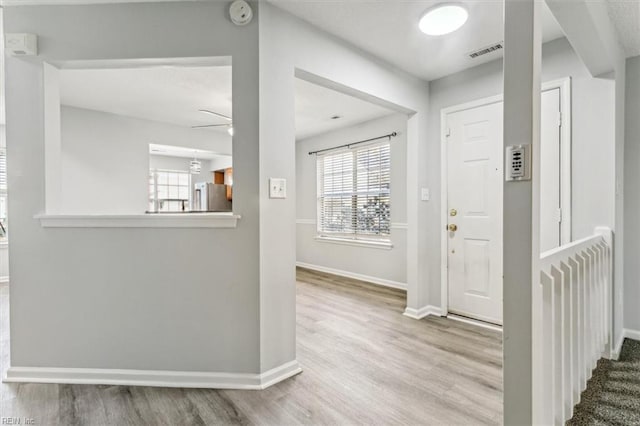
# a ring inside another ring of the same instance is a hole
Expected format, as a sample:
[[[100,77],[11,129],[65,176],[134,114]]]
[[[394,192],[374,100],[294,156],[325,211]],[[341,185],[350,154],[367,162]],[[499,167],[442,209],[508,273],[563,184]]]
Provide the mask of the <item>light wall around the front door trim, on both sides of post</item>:
[[[591,77],[566,39],[543,46],[542,82],[571,77],[572,93],[572,238],[593,234],[596,226],[614,226],[615,84]],[[440,140],[440,111],[502,93],[502,61],[493,61],[429,83],[429,140]],[[433,143],[440,156],[439,143]],[[431,184],[440,188],[437,179]],[[440,205],[439,191],[432,191]],[[440,234],[438,234],[440,235]],[[440,259],[440,240],[429,244],[429,257]],[[432,270],[430,300],[439,304],[440,271]]]

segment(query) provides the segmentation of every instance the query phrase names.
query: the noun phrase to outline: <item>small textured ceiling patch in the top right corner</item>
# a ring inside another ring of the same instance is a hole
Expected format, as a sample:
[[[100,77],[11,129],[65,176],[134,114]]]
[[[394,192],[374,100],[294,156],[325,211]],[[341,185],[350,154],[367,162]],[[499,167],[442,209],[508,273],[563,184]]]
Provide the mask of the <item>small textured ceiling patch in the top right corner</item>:
[[[607,3],[627,57],[640,55],[640,0],[607,0]]]

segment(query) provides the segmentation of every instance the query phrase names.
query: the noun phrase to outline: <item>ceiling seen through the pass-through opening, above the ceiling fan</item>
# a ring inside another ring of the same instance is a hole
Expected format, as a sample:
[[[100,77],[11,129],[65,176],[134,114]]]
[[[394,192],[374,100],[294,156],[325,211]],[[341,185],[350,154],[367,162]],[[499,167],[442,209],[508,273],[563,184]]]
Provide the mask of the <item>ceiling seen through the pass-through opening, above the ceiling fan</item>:
[[[63,105],[184,127],[225,124],[198,110],[231,116],[231,67],[65,69],[60,97]]]

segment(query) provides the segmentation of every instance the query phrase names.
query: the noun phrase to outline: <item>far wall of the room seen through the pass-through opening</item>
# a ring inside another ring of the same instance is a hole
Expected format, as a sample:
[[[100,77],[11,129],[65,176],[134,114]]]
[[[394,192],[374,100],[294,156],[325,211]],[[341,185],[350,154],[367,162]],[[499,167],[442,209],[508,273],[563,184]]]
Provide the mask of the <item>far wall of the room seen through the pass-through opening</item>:
[[[150,143],[231,152],[230,138],[217,132],[68,106],[61,111],[60,189],[66,214],[144,213]],[[188,159],[185,163],[188,170]]]

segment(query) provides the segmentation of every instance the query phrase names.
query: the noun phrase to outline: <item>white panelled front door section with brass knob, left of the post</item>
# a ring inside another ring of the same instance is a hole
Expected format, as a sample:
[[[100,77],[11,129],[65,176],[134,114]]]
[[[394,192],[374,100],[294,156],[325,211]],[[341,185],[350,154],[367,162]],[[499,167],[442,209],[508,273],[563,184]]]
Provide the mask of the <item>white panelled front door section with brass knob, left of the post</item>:
[[[449,312],[502,324],[502,103],[447,126]]]

